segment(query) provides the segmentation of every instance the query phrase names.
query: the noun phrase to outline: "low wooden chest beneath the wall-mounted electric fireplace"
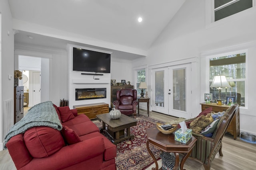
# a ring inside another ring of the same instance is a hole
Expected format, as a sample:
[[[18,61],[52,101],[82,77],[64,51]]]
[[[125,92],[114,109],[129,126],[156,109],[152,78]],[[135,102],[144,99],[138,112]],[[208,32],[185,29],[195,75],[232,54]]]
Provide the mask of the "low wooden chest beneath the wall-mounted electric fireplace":
[[[102,113],[108,113],[109,107],[106,103],[94,103],[73,106],[77,109],[77,114],[85,114],[89,119],[96,119],[96,115]]]

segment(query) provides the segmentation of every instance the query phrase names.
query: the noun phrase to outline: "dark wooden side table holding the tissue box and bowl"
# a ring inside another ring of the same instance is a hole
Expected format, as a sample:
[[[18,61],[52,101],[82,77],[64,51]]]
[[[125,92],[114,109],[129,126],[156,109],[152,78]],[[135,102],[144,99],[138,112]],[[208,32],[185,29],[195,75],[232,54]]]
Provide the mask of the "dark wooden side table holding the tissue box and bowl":
[[[164,152],[174,152],[176,156],[176,161],[173,170],[178,170],[180,158],[179,153],[184,153],[184,156],[180,162],[180,170],[183,170],[183,166],[186,159],[190,155],[190,152],[192,151],[193,147],[196,145],[196,138],[192,136],[192,138],[186,144],[181,143],[179,141],[175,141],[174,133],[166,135],[160,132],[156,128],[156,126],[147,129],[146,133],[148,137],[147,149],[156,164],[156,168],[152,168],[152,170],[158,170],[158,163],[155,156],[152,154],[149,148],[149,144],[153,145],[154,147],[157,147],[160,150],[163,150]],[[162,168],[160,168],[160,170],[162,170]]]

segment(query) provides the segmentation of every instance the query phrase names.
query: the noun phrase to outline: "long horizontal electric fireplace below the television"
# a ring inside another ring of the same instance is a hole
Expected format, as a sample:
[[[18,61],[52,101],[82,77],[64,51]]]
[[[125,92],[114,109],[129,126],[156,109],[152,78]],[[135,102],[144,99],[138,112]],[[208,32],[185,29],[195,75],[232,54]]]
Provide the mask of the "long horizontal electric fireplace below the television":
[[[106,88],[76,88],[76,100],[106,98]]]

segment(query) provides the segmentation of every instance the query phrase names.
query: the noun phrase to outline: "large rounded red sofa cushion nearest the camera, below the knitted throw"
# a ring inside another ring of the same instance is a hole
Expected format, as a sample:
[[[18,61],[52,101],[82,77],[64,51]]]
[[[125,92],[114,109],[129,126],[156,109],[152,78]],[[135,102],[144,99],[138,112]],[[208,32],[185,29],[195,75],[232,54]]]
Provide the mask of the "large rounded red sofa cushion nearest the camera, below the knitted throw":
[[[34,158],[48,157],[65,146],[60,131],[46,126],[28,129],[24,133],[24,143]]]

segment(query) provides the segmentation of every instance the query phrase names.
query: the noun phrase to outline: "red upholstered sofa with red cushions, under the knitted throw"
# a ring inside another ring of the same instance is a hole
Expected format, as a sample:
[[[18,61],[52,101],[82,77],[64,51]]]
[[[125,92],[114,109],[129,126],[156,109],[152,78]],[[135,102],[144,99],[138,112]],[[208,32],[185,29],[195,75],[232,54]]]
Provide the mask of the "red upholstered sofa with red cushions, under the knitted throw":
[[[116,170],[116,145],[76,109],[55,106],[62,130],[36,126],[6,147],[18,170]],[[58,119],[58,118],[57,118]]]

